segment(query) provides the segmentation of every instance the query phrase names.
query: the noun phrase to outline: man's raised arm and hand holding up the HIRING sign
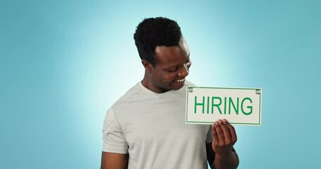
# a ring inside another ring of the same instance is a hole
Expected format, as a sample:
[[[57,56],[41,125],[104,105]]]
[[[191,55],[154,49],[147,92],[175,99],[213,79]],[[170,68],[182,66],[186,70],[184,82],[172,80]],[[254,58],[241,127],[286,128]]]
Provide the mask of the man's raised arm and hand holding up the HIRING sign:
[[[212,144],[206,145],[207,159],[212,168],[237,168],[238,155],[233,145],[237,137],[234,127],[227,120],[218,120],[212,125]]]

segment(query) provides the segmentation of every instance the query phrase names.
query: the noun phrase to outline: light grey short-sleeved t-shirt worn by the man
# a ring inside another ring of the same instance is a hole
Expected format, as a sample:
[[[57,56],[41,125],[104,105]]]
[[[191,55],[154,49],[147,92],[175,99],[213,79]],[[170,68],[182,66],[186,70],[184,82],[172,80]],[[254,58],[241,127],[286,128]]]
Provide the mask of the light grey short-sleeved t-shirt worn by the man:
[[[212,130],[185,123],[187,85],[157,94],[138,82],[107,111],[102,151],[129,154],[128,168],[207,168]]]

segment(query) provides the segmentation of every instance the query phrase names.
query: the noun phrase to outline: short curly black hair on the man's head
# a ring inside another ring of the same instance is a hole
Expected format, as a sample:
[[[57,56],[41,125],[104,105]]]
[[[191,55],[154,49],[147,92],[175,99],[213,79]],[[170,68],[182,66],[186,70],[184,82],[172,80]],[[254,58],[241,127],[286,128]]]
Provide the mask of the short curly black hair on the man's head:
[[[138,54],[155,66],[155,49],[157,46],[177,46],[182,37],[181,27],[169,18],[145,18],[134,34]]]

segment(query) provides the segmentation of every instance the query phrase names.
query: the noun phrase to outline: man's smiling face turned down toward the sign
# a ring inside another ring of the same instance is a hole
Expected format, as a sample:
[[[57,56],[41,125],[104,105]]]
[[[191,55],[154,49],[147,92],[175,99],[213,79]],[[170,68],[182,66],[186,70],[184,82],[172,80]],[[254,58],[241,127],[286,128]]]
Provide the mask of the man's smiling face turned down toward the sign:
[[[191,65],[185,40],[182,38],[178,46],[157,46],[155,60],[150,69],[150,89],[156,93],[181,89]]]

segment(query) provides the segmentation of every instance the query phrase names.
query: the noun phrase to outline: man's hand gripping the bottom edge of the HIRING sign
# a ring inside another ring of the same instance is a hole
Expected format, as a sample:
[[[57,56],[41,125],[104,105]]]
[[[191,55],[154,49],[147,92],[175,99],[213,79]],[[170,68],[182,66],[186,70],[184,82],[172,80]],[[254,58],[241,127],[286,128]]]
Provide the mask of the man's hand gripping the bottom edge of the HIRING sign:
[[[224,120],[217,120],[212,125],[213,142],[212,149],[215,152],[215,156],[228,157],[231,156],[233,145],[235,144],[237,137],[233,126]]]

